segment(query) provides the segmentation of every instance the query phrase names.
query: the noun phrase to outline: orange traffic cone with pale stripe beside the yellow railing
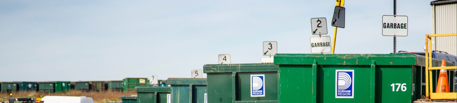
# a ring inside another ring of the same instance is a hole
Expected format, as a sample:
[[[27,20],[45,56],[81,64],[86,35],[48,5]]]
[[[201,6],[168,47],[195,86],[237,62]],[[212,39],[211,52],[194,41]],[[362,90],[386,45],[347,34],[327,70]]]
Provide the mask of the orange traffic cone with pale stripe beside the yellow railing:
[[[446,66],[446,60],[441,61],[441,67]],[[449,82],[447,81],[446,70],[440,70],[440,76],[438,76],[438,82],[436,82],[436,92],[449,92]],[[443,99],[451,100],[451,99]]]

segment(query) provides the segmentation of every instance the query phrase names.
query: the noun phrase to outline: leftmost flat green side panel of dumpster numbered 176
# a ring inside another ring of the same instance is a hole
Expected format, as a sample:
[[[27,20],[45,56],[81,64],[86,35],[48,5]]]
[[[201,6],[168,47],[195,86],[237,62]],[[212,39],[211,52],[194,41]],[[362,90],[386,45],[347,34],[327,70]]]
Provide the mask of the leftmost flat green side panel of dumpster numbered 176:
[[[312,66],[279,65],[279,68],[281,68],[279,74],[285,75],[279,77],[279,103],[311,103],[313,100]],[[209,93],[208,97],[210,97]]]

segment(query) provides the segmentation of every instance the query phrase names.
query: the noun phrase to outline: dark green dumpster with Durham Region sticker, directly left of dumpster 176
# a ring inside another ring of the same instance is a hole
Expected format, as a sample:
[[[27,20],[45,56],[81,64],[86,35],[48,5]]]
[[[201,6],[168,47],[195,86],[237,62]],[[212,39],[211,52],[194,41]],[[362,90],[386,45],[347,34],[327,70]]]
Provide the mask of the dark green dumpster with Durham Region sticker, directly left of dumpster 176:
[[[204,65],[208,103],[277,103],[278,65]],[[170,81],[168,81],[170,83]]]

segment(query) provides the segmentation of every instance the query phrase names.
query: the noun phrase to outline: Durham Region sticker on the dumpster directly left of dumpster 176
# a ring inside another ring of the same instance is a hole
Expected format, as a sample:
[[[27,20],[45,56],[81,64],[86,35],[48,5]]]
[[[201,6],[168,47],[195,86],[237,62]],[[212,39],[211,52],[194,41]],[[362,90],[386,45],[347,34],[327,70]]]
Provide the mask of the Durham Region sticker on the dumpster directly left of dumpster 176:
[[[265,97],[265,75],[251,75],[251,97]]]

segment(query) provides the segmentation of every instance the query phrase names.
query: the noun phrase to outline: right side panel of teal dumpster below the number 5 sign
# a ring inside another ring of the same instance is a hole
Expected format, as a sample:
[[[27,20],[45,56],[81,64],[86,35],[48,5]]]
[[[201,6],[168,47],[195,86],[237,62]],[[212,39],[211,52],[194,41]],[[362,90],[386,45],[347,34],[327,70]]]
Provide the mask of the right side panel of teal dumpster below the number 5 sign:
[[[192,103],[205,103],[206,85],[194,85],[192,91]]]

